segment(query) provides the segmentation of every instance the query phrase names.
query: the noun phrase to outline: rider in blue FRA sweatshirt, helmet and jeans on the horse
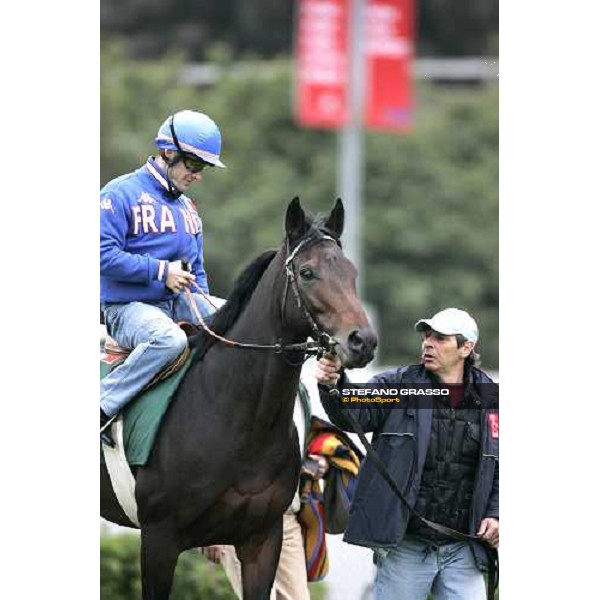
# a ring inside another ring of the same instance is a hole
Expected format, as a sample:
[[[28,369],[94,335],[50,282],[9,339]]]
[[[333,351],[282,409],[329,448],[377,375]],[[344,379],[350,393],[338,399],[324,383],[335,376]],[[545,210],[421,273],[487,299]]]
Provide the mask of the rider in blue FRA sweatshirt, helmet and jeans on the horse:
[[[100,306],[108,334],[131,350],[100,384],[101,439],[114,445],[108,424],[187,346],[178,321],[194,322],[185,289],[203,317],[223,301],[209,301],[202,221],[187,189],[219,159],[221,133],[205,114],[169,116],[155,138],[158,156],[100,191]]]

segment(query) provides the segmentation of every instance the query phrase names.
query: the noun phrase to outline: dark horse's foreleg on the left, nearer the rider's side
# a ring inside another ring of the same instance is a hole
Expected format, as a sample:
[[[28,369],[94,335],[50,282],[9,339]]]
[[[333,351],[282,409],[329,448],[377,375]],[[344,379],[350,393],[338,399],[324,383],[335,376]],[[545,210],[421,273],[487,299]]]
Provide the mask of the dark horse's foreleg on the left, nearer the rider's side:
[[[142,527],[142,599],[168,600],[179,558],[179,543],[170,530]]]

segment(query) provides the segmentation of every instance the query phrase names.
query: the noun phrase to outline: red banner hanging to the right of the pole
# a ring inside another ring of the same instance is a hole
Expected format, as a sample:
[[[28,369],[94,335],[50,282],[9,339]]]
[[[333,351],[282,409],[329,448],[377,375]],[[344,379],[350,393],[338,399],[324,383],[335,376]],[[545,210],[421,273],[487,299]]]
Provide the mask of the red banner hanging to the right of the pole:
[[[365,125],[406,131],[412,113],[413,0],[367,0]]]

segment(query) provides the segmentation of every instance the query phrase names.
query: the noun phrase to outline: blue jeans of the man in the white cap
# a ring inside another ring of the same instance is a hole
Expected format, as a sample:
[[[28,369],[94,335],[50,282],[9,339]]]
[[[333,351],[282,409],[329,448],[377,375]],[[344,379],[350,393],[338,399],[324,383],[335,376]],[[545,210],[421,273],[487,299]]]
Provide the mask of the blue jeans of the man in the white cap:
[[[429,593],[435,600],[485,600],[483,573],[466,542],[435,546],[407,535],[377,556],[376,600],[426,600]]]

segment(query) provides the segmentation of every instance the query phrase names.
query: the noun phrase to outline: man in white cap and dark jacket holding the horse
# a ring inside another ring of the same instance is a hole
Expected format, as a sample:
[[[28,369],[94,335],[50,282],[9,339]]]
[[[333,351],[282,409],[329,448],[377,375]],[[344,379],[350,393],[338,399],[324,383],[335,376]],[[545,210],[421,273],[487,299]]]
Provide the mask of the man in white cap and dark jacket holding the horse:
[[[485,546],[499,544],[498,410],[485,401],[497,394],[497,386],[477,367],[479,332],[466,311],[447,308],[421,319],[415,329],[422,340],[420,364],[390,369],[368,383],[448,389],[447,396],[398,408],[343,404],[331,386],[357,384],[337,357],[319,361],[316,376],[329,418],[352,431],[345,418],[351,410],[361,427],[373,432],[375,450],[410,506],[367,458],[344,540],[374,550],[376,600],[425,600],[428,594],[436,600],[483,600]],[[415,512],[481,541],[442,535]]]

